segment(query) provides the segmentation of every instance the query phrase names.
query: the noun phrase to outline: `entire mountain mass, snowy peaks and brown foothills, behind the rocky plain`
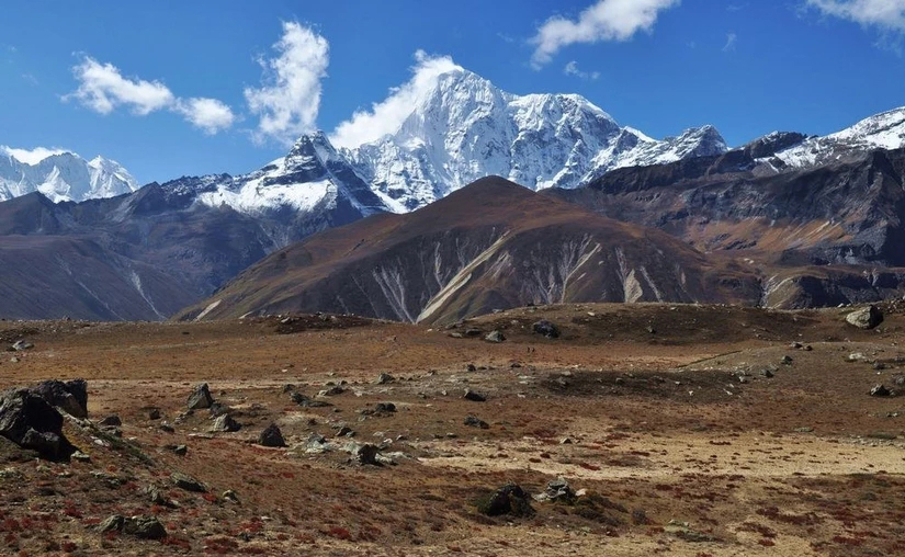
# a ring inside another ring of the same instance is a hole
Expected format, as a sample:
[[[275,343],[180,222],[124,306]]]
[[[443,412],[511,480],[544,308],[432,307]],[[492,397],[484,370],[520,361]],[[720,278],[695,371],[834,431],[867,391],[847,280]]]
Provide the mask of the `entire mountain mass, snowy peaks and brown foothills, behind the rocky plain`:
[[[904,147],[905,109],[729,149],[712,126],[656,140],[581,96],[459,68],[394,133],[314,133],[238,177],[137,189],[105,159],[7,150],[0,316],[452,322],[561,302],[881,299],[905,289]]]

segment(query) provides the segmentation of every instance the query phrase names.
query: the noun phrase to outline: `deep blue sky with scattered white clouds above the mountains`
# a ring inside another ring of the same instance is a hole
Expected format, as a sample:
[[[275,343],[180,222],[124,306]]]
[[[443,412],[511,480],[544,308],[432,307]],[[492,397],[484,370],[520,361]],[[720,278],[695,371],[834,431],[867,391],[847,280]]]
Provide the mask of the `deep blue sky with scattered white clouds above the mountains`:
[[[439,57],[733,146],[905,105],[905,0],[34,0],[2,19],[0,145],[100,154],[142,183],[254,170]]]

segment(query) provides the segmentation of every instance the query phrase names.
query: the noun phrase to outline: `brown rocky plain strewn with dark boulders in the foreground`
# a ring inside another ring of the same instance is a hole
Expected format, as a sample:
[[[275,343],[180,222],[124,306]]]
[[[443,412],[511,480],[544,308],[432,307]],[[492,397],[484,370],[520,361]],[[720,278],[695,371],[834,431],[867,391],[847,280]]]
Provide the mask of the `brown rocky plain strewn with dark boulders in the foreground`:
[[[905,315],[855,309],[2,321],[0,554],[902,555]]]

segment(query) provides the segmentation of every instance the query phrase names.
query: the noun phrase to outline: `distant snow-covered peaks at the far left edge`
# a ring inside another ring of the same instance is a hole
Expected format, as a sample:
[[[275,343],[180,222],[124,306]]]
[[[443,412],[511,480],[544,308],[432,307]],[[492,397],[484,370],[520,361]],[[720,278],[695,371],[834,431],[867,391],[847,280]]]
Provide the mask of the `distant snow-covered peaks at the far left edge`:
[[[88,161],[69,151],[44,150],[39,157],[22,152],[27,151],[0,146],[0,201],[41,192],[55,203],[79,202],[138,189],[126,169],[103,157]]]

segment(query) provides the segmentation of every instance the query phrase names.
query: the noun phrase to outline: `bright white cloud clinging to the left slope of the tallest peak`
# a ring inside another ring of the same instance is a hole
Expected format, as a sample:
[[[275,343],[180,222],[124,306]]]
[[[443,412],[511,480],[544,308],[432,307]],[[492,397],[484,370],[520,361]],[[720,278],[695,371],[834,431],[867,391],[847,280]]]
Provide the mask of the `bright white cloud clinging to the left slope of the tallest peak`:
[[[463,71],[449,56],[429,56],[423,50],[415,53],[411,79],[389,90],[382,102],[374,103],[370,111],[355,111],[351,120],[337,126],[330,141],[337,147],[354,148],[374,141],[399,129],[411,114],[417,100],[437,86],[443,73]]]

